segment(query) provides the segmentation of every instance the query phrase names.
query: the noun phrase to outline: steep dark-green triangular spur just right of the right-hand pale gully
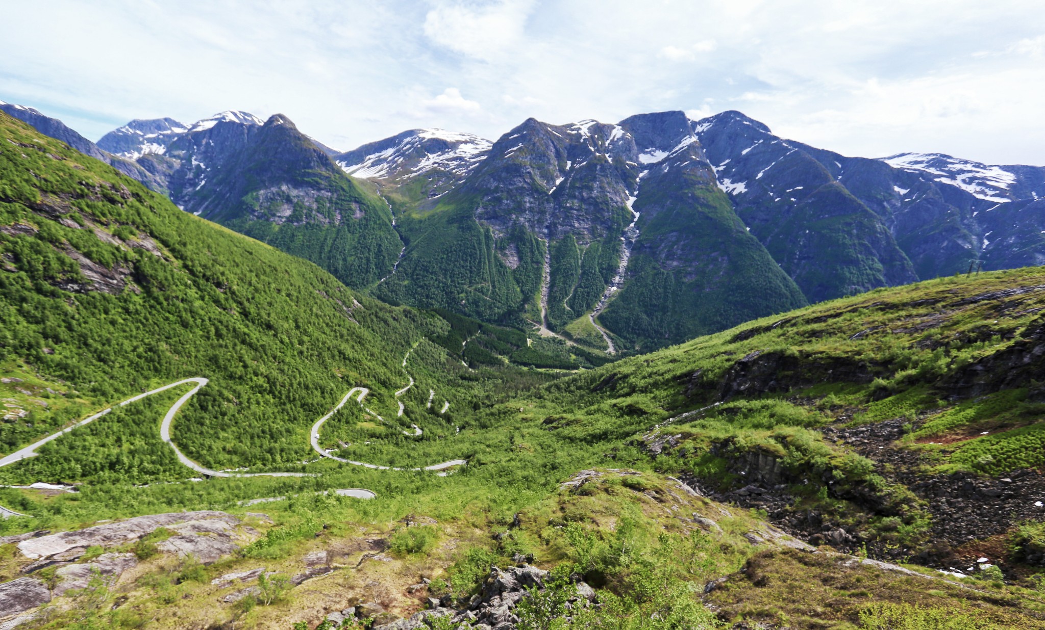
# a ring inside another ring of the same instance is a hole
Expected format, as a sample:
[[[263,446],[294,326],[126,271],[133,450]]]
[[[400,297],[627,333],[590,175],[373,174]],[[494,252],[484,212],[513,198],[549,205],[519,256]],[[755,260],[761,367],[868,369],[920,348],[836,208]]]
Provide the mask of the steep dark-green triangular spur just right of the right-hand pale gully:
[[[635,139],[642,170],[627,280],[601,318],[609,330],[657,345],[806,304],[716,186],[680,112],[621,125]]]

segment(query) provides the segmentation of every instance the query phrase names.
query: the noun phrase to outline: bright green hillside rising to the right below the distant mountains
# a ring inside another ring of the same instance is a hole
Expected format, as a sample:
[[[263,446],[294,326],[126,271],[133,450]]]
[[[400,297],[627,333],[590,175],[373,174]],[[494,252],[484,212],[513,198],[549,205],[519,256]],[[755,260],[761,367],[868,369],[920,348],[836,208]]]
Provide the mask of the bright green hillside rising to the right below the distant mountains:
[[[865,422],[983,407],[983,413],[952,423],[926,423],[920,437],[943,435],[972,418],[976,427],[988,426],[1005,406],[970,403],[969,396],[1021,388],[1021,401],[1027,388],[1030,397],[1040,395],[1034,393],[1038,364],[1029,358],[1019,363],[1019,353],[1030,353],[1037,343],[1043,285],[1045,269],[1027,268],[876,289],[566,379],[550,386],[547,405],[576,414],[576,439],[631,435],[723,401],[811,396],[815,403],[828,394],[829,407]],[[1011,356],[1013,365],[1005,363]],[[1019,420],[1021,431],[939,449],[940,461],[991,474],[1042,465],[1045,423],[1032,409],[1027,413]],[[832,419],[798,416],[812,425]],[[777,419],[763,418],[769,428],[790,423]],[[994,459],[979,461],[969,455],[974,452]]]

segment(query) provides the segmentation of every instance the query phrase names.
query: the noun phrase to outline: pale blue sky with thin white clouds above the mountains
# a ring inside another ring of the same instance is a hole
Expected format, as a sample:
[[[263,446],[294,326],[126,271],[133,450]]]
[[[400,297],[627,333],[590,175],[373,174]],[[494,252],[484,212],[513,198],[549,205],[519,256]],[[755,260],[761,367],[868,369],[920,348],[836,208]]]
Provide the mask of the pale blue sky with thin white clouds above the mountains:
[[[846,155],[1045,165],[1041,0],[0,1],[0,100],[91,140],[225,110],[342,150],[739,110]]]

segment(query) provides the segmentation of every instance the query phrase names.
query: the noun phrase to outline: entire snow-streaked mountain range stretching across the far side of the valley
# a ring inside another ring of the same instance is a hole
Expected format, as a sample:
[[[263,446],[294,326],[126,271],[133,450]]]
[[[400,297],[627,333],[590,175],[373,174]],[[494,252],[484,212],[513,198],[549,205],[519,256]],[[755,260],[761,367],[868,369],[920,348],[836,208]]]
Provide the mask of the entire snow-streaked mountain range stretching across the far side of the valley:
[[[1045,168],[847,158],[741,113],[412,129],[338,152],[285,116],[135,120],[94,145],[4,111],[392,302],[648,350],[806,304],[1045,262]]]

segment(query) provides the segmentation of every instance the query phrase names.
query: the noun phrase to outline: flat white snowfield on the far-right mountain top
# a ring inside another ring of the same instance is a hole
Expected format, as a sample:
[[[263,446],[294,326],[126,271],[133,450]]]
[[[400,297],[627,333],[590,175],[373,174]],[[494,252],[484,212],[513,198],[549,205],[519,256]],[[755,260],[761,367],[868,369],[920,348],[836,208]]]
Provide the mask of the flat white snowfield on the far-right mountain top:
[[[944,153],[897,153],[880,160],[889,166],[933,175],[933,179],[965,190],[974,197],[1003,203],[1017,176],[1000,166],[960,160]]]

